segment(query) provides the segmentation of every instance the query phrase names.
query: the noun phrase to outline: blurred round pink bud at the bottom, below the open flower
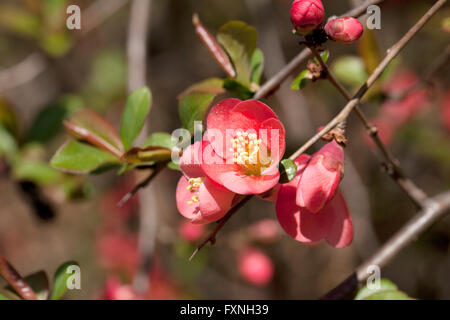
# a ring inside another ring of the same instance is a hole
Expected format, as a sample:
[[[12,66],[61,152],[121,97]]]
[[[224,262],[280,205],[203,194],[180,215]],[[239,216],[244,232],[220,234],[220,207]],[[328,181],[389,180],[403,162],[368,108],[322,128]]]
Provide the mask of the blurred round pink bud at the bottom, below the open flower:
[[[241,276],[255,286],[267,285],[274,273],[272,260],[255,248],[246,248],[239,254],[238,269]]]

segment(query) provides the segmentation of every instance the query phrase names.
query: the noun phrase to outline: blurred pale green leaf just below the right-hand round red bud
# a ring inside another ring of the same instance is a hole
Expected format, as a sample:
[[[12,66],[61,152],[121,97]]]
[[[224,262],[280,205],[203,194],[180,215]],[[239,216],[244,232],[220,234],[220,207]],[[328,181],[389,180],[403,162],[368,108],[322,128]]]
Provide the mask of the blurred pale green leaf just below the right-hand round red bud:
[[[360,86],[368,78],[364,62],[356,56],[339,57],[331,69],[338,80],[351,87]]]

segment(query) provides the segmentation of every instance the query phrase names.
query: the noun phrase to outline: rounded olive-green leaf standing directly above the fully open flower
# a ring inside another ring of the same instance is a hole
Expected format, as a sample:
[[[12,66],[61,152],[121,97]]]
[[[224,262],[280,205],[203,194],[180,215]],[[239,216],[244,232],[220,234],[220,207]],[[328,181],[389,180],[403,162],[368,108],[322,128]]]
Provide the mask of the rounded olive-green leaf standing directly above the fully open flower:
[[[256,29],[242,21],[230,21],[217,34],[217,41],[230,56],[236,70],[236,80],[250,86],[252,75],[251,58],[256,49]]]

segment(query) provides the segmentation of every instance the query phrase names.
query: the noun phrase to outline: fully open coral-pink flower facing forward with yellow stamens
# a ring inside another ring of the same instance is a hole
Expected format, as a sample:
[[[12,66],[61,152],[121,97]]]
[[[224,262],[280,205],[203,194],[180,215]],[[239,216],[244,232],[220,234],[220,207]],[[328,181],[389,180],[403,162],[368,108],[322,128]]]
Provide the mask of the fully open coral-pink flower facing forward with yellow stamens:
[[[207,118],[203,172],[237,194],[266,192],[278,183],[284,139],[283,125],[264,103],[223,100]]]

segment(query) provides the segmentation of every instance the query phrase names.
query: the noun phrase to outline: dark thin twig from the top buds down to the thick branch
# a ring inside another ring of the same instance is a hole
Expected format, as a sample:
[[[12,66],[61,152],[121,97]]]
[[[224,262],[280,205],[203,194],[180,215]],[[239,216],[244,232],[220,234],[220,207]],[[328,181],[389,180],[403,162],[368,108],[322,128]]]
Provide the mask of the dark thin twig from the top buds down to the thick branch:
[[[334,76],[333,72],[328,68],[325,61],[323,61],[319,52],[317,52],[316,48],[310,47],[311,52],[316,57],[317,61],[320,63],[322,70],[325,72],[327,79],[331,82],[333,86],[335,86],[338,91],[347,99],[347,101],[351,100],[350,93],[339,83],[339,81]],[[359,105],[355,106],[354,111],[358,115],[358,118],[361,120],[362,124],[366,128],[366,131],[369,137],[373,140],[382,156],[384,157],[384,162],[382,162],[383,167],[387,170],[386,172],[389,176],[400,186],[400,188],[406,193],[406,195],[414,202],[414,204],[421,208],[423,201],[427,198],[426,193],[420,189],[414,182],[406,177],[402,168],[399,165],[397,159],[389,152],[387,147],[383,144],[380,137],[378,136],[377,127],[372,125],[367,117],[364,115],[363,111],[359,107]]]

